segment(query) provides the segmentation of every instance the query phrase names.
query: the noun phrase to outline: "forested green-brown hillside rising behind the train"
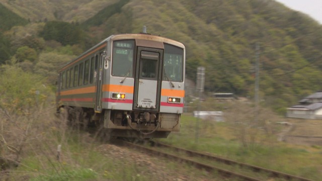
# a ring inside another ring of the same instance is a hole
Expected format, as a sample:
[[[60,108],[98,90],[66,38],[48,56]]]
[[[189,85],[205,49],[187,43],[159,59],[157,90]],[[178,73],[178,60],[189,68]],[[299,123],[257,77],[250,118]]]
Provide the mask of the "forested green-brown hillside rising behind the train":
[[[54,83],[55,70],[70,58],[111,34],[139,33],[145,25],[148,33],[186,45],[186,76],[195,80],[196,68],[205,66],[208,93],[254,97],[256,44],[262,105],[284,113],[303,96],[322,89],[322,26],[275,1],[0,3],[4,5],[0,8],[6,7],[0,11],[0,20],[17,20],[10,21],[15,27],[3,28],[0,23],[0,63],[19,64],[41,74],[48,85]],[[58,31],[64,26],[66,31]]]

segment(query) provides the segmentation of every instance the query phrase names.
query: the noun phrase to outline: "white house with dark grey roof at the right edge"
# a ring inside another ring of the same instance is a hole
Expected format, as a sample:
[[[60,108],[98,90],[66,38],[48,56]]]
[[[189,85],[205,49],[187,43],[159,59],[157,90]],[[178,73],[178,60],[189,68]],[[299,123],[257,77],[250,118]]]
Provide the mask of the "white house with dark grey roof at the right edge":
[[[322,92],[316,92],[287,108],[288,118],[322,119]]]

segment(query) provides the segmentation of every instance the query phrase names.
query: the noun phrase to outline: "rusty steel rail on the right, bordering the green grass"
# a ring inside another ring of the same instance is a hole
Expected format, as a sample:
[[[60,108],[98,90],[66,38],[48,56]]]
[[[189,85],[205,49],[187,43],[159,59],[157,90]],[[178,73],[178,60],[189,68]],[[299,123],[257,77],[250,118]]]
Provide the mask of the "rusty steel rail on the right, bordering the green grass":
[[[179,147],[176,147],[176,146],[172,146],[172,145],[168,145],[168,144],[164,144],[164,143],[159,143],[159,142],[155,142],[155,141],[150,141],[150,143],[152,145],[154,145],[154,146],[166,147],[166,148],[174,149],[176,151],[185,152],[185,153],[187,153],[187,154],[189,154],[191,156],[204,157],[204,158],[208,158],[208,159],[215,160],[215,161],[218,161],[218,162],[223,162],[223,163],[229,164],[229,165],[239,165],[241,167],[249,168],[249,169],[252,169],[252,170],[258,171],[258,172],[263,171],[263,172],[269,173],[271,177],[279,177],[279,178],[284,178],[284,179],[287,179],[287,180],[313,181],[311,179],[299,177],[299,176],[296,176],[296,175],[291,175],[291,174],[282,173],[282,172],[279,172],[279,171],[275,171],[275,170],[271,170],[271,169],[267,169],[267,168],[263,168],[263,167],[259,167],[259,166],[254,166],[254,165],[250,165],[250,164],[246,164],[246,163],[241,163],[241,162],[238,162],[238,161],[234,161],[234,160],[214,156],[214,155],[207,154],[207,153],[200,153],[200,152],[187,150],[187,149],[183,149],[183,148],[179,148]]]

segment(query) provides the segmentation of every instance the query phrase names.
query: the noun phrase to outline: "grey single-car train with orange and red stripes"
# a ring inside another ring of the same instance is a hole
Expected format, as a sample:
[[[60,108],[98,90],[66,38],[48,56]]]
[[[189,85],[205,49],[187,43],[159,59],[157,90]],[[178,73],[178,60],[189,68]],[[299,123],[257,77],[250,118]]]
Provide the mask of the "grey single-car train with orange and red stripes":
[[[57,111],[124,138],[180,131],[186,48],[146,33],[111,35],[58,70]]]

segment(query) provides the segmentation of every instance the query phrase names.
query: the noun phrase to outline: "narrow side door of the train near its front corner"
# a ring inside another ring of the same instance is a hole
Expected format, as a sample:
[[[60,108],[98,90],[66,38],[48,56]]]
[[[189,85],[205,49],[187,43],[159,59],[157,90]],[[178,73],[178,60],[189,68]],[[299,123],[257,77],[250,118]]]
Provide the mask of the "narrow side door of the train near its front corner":
[[[102,82],[103,82],[103,53],[95,55],[95,72],[96,72],[96,83],[95,83],[95,112],[102,112]]]

